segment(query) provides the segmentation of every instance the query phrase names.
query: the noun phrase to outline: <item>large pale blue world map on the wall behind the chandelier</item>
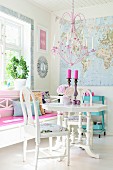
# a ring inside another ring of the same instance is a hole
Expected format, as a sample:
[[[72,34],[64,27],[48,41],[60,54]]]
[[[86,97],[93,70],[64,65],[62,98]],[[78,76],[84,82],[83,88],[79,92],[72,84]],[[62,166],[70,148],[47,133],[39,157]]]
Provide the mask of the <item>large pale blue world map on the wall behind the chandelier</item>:
[[[67,24],[61,27],[65,34]],[[67,83],[67,69],[79,71],[80,86],[112,86],[113,85],[113,17],[102,17],[86,20],[85,37],[91,48],[91,37],[94,40],[94,53],[85,56],[79,63],[69,66],[60,61],[60,84]]]

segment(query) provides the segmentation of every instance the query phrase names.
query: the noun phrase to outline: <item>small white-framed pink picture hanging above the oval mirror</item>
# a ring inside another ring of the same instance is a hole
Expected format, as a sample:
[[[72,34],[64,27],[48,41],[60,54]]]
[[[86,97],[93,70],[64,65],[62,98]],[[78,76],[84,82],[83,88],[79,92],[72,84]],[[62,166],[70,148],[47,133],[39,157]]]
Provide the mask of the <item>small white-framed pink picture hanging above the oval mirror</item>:
[[[48,31],[42,26],[38,27],[38,50],[48,52]]]

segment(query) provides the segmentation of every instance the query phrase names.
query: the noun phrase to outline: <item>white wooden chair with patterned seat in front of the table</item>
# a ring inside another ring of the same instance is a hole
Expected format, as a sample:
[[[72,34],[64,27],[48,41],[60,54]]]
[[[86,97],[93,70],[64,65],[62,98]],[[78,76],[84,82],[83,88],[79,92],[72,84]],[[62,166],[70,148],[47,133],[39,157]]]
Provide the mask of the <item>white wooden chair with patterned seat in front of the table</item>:
[[[31,98],[34,104],[34,112],[35,112],[35,120],[32,116],[32,109],[31,109]],[[49,156],[45,158],[62,158],[67,157],[67,165],[70,163],[70,142],[69,142],[69,131],[67,128],[61,127],[56,124],[50,123],[39,123],[38,117],[38,109],[35,101],[34,94],[32,91],[27,88],[23,87],[20,91],[20,101],[24,116],[24,142],[23,142],[23,161],[26,161],[26,153],[29,152],[27,150],[27,141],[30,139],[28,135],[35,138],[35,170],[37,170],[38,164],[38,155],[39,155],[39,147],[40,147],[40,139],[42,138],[52,138],[58,136],[65,136],[67,139],[67,145],[65,147],[65,154],[58,155],[58,156]],[[45,159],[44,158],[44,159]],[[43,159],[43,158],[41,158]]]

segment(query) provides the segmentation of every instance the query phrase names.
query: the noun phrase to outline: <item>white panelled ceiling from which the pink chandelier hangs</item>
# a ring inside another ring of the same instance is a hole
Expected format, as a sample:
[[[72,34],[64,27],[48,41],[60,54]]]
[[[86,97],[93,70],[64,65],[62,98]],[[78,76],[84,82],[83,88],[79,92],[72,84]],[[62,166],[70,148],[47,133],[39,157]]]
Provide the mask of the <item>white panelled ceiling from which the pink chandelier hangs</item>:
[[[60,10],[71,9],[72,0],[29,0],[32,3],[40,6],[41,8],[55,12]],[[101,5],[113,2],[113,0],[75,0],[76,8],[83,8],[94,5]]]

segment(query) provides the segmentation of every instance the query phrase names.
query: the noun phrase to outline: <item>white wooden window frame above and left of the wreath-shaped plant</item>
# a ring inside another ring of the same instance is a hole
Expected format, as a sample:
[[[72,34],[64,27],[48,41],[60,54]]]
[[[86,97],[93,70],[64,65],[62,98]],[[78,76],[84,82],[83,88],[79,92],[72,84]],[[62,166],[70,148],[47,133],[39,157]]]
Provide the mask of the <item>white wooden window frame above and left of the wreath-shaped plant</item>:
[[[6,55],[5,55],[5,51],[6,50],[14,50],[20,53],[20,56],[23,56],[23,42],[24,42],[24,30],[23,30],[23,25],[16,23],[15,21],[11,21],[9,19],[0,17],[0,22],[1,22],[1,39],[0,39],[0,47],[2,48],[2,55],[1,55],[1,67],[2,67],[2,72],[0,73],[0,83],[3,84],[3,82],[5,81],[5,73],[6,73]],[[6,25],[14,25],[17,26],[19,31],[20,31],[20,35],[19,35],[19,45],[17,46],[16,44],[12,44],[12,43],[6,43]]]

